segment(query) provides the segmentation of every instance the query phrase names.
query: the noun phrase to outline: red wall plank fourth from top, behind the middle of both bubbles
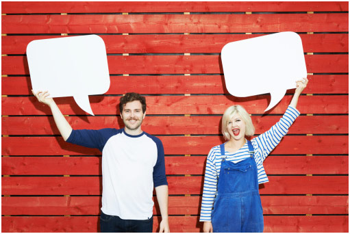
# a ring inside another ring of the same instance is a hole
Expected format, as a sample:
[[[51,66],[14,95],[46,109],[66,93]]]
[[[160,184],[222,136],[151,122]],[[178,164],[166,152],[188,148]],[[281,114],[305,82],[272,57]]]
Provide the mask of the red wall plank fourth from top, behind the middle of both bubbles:
[[[349,72],[348,55],[305,55],[305,63],[308,73]],[[108,67],[110,74],[223,74],[219,55],[110,55]],[[1,73],[29,75],[27,57],[1,57]]]

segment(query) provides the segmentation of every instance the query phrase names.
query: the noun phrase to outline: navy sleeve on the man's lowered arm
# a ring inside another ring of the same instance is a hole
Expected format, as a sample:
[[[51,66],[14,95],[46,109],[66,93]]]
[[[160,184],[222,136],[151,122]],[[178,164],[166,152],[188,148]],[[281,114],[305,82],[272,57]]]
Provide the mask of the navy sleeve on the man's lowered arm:
[[[164,162],[164,148],[162,142],[159,138],[155,136],[151,136],[152,140],[157,144],[158,148],[158,157],[155,166],[153,167],[153,184],[154,187],[158,187],[160,185],[168,185],[168,181],[166,181],[165,175],[165,162]]]

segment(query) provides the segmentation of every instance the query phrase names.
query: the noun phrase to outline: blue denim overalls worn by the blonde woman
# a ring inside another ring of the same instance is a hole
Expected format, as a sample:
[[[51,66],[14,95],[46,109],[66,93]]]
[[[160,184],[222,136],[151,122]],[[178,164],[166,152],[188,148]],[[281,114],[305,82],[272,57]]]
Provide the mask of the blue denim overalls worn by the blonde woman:
[[[264,230],[258,168],[253,146],[247,142],[251,157],[237,164],[225,160],[225,146],[220,146],[223,161],[212,210],[214,233],[262,233]]]

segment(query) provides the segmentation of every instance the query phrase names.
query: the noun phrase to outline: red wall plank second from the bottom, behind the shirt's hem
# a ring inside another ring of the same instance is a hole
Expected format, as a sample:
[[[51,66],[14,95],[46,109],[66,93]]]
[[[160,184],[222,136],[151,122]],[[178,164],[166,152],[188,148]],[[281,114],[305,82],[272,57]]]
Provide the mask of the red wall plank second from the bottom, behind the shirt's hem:
[[[153,213],[160,215],[154,197]],[[349,196],[261,196],[264,214],[347,214]],[[2,197],[1,212],[5,216],[97,216],[99,196]],[[201,196],[169,196],[169,215],[199,216]]]

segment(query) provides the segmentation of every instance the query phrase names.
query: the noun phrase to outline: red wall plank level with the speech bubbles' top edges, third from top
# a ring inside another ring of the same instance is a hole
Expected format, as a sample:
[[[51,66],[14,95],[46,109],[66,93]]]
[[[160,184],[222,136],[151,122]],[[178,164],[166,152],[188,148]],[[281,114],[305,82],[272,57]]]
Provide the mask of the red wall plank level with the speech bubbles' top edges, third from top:
[[[264,34],[100,35],[107,53],[221,53],[229,42]],[[299,34],[305,53],[348,52],[349,34]],[[3,36],[1,54],[25,54],[32,40],[66,36]],[[210,45],[210,46],[208,46]]]

